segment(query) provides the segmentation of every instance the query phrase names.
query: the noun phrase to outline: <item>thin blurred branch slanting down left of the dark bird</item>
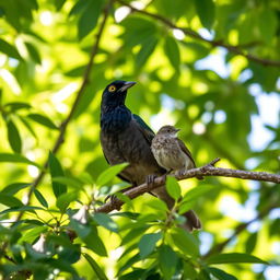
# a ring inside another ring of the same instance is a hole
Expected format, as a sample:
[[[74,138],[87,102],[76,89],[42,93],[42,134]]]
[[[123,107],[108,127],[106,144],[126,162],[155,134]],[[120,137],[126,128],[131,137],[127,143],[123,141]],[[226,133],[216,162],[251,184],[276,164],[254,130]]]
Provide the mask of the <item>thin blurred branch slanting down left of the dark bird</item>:
[[[104,31],[104,27],[105,27],[105,24],[106,24],[108,14],[109,14],[109,9],[110,9],[112,3],[113,3],[113,0],[109,0],[108,4],[104,9],[103,20],[101,22],[100,28],[98,28],[97,34],[96,34],[95,42],[94,42],[94,44],[92,46],[92,49],[91,49],[90,60],[89,60],[89,63],[86,66],[84,74],[83,74],[83,80],[82,80],[81,88],[80,88],[80,90],[77,93],[77,96],[75,96],[75,100],[74,100],[73,105],[71,107],[71,110],[69,112],[67,118],[61,122],[61,125],[59,127],[58,138],[57,138],[57,140],[56,140],[56,142],[54,144],[54,148],[51,149],[51,152],[54,154],[57,153],[57,151],[59,150],[61,144],[65,142],[65,135],[66,135],[67,127],[68,127],[70,120],[72,119],[72,117],[73,117],[73,115],[75,113],[77,106],[78,106],[79,102],[81,101],[81,97],[82,97],[82,95],[84,93],[84,90],[85,90],[85,88],[86,88],[86,85],[89,83],[89,78],[90,78],[90,73],[91,73],[91,70],[92,70],[92,67],[93,67],[93,63],[94,63],[94,58],[95,58],[95,56],[96,56],[96,54],[98,51],[101,37],[102,37],[102,34],[103,34],[103,31]],[[27,202],[26,202],[26,205],[30,203],[30,200],[31,200],[31,197],[32,197],[32,194],[33,194],[34,189],[39,185],[39,183],[44,178],[44,176],[46,174],[47,166],[48,166],[48,161],[46,160],[46,162],[44,164],[44,168],[40,171],[39,175],[34,179],[34,182],[32,184],[32,187],[31,187],[31,189],[30,189],[30,191],[27,194]],[[19,221],[22,218],[22,215],[23,215],[23,212],[20,212],[16,221]]]

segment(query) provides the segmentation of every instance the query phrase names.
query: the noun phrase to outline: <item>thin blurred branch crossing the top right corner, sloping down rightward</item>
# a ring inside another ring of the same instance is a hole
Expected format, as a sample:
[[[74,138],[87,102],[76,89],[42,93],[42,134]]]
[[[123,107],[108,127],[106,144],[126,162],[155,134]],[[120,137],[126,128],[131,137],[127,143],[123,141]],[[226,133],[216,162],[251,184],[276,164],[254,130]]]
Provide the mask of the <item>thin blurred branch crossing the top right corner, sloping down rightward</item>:
[[[128,7],[129,9],[131,9],[132,12],[141,13],[141,14],[147,15],[149,18],[155,19],[155,20],[164,23],[170,28],[180,30],[186,36],[198,39],[198,40],[201,40],[201,42],[205,42],[205,43],[208,43],[212,47],[223,47],[223,48],[228,49],[229,51],[231,51],[235,55],[243,56],[243,57],[247,58],[250,61],[255,61],[255,62],[261,63],[264,66],[280,67],[280,61],[278,61],[278,60],[269,60],[269,59],[256,57],[254,55],[245,52],[241,48],[241,46],[233,46],[233,45],[223,43],[222,40],[212,40],[212,39],[205,38],[203,36],[201,36],[200,34],[198,34],[197,32],[195,32],[190,28],[176,26],[168,19],[166,19],[166,18],[164,18],[160,14],[151,13],[151,12],[148,12],[145,10],[139,10],[139,9],[132,7],[131,4],[129,4],[129,3],[127,3],[122,0],[117,0],[117,2],[119,2],[122,5]]]

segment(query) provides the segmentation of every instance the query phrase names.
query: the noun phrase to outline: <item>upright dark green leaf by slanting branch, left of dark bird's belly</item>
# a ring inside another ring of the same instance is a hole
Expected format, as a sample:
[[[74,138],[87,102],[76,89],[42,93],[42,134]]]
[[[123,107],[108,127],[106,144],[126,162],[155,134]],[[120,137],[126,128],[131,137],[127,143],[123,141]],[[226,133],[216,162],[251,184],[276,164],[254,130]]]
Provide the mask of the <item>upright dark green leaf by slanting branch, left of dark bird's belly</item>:
[[[49,152],[49,156],[48,156],[48,166],[49,166],[50,176],[51,176],[52,191],[55,196],[58,198],[60,195],[67,192],[67,186],[61,183],[57,183],[52,180],[54,177],[58,177],[58,176],[63,177],[65,173],[60,165],[60,162],[51,152]]]

